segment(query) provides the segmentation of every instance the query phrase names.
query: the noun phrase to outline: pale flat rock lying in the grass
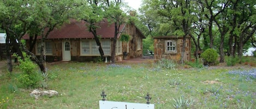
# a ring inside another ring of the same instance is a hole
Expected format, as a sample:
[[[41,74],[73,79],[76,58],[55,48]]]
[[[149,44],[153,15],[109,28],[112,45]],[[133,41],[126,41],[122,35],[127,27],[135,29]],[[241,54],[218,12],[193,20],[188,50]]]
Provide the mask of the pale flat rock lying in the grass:
[[[53,95],[58,95],[57,91],[53,91],[53,90],[49,90],[49,91],[40,91],[39,89],[34,89],[34,91],[32,91],[30,93],[31,97],[34,97],[35,99],[38,99],[41,96],[45,96],[47,95],[48,97],[52,97]]]

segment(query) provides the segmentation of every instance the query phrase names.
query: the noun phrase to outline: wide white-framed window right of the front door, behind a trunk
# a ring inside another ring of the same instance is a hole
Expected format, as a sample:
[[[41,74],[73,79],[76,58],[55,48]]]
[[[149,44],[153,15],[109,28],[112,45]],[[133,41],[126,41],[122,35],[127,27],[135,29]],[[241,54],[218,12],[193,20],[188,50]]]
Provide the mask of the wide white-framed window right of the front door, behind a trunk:
[[[102,39],[100,40],[102,44],[102,49],[104,55],[110,55],[110,40]],[[82,56],[92,56],[100,55],[97,43],[95,40],[81,40],[81,55]]]

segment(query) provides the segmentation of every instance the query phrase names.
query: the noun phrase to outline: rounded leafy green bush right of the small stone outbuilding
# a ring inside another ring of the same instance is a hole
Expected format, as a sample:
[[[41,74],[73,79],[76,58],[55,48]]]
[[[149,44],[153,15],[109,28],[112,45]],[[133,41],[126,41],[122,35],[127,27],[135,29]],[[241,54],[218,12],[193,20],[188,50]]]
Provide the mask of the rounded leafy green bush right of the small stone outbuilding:
[[[216,50],[208,48],[201,54],[204,60],[204,65],[215,65],[218,58],[218,53]]]

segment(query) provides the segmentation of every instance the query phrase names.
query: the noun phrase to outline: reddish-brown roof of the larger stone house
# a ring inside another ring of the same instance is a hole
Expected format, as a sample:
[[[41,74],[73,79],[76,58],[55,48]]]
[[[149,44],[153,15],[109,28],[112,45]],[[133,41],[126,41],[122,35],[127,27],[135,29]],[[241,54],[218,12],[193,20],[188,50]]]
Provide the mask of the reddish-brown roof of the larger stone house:
[[[122,24],[120,31],[124,28],[125,24]],[[114,38],[115,24],[109,24],[108,21],[102,21],[97,28],[97,35],[102,38]],[[47,39],[92,39],[93,34],[87,29],[85,21],[70,20],[70,23],[62,25],[60,28],[55,28],[47,36]],[[23,39],[29,39],[26,34]],[[40,37],[39,37],[40,39]]]

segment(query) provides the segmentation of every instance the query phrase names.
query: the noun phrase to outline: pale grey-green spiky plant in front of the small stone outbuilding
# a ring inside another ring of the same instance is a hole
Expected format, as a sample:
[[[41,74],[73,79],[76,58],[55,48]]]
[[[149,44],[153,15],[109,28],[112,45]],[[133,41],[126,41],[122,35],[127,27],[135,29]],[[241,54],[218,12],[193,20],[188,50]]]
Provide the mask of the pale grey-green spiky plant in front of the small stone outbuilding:
[[[161,59],[157,62],[157,66],[159,68],[174,69],[176,67],[176,63],[169,59]]]

